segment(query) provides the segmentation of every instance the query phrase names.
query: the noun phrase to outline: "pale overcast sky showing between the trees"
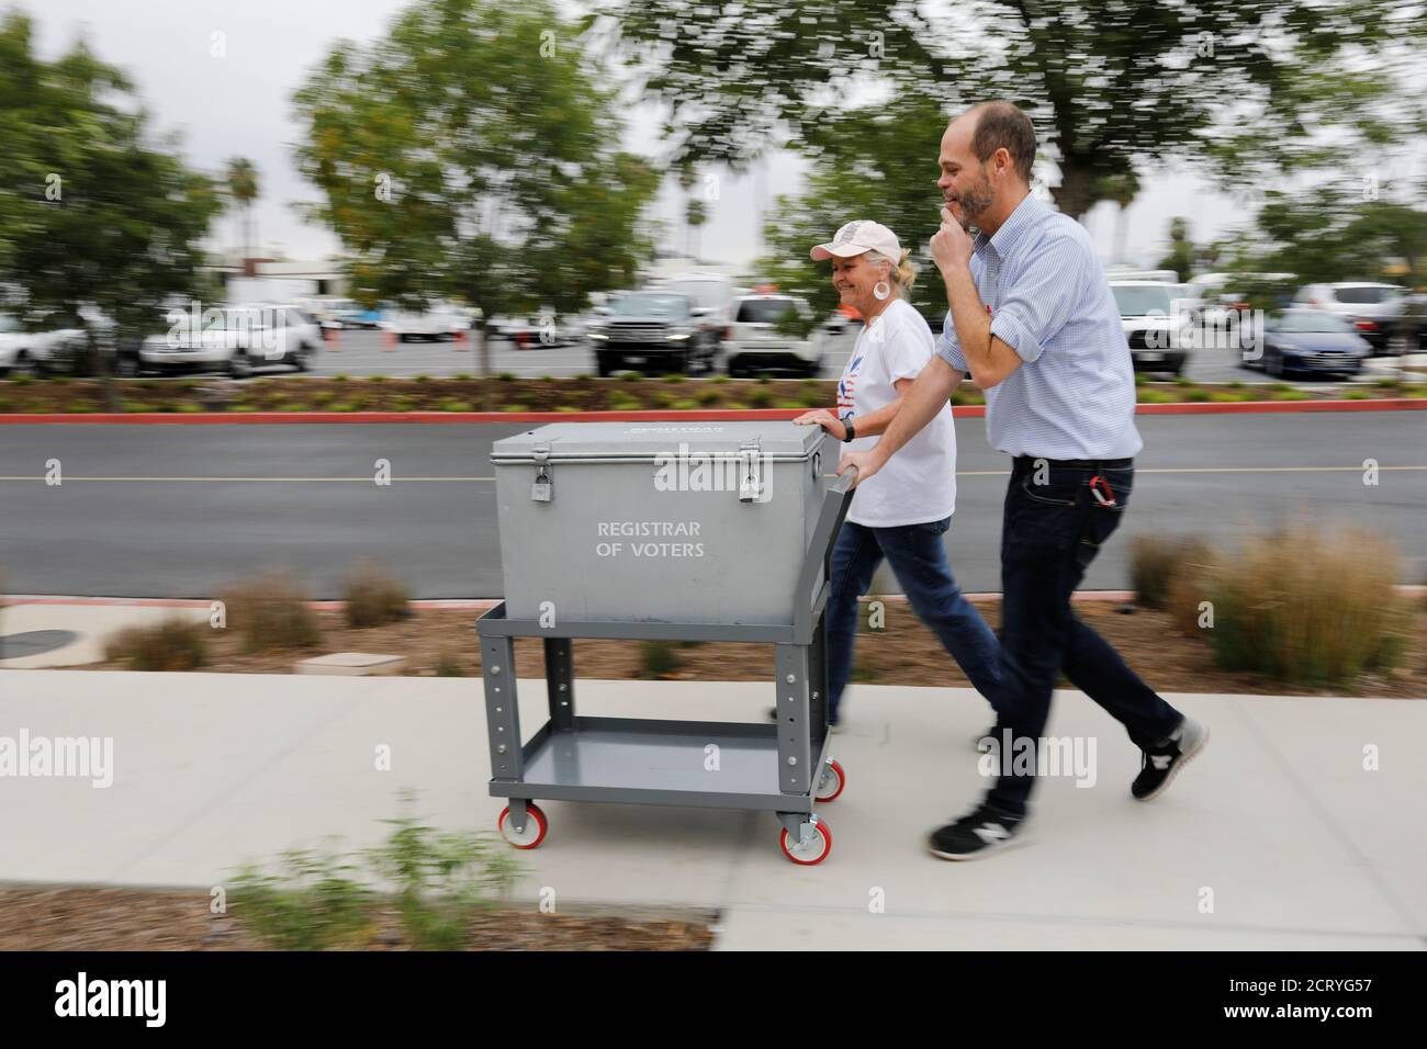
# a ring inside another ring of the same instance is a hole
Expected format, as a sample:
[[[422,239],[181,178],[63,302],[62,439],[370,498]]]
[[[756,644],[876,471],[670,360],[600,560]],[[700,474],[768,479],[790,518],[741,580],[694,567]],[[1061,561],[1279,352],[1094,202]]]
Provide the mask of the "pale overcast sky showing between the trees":
[[[291,207],[317,193],[293,161],[298,128],[290,98],[332,40],[372,39],[405,0],[21,0],[14,6],[36,20],[44,57],[53,59],[84,33],[100,59],[124,69],[156,127],[183,133],[190,164],[217,173],[230,157],[253,160],[263,191],[254,208],[257,237],[267,250],[311,260],[338,248],[331,234],[304,223]],[[225,57],[211,54],[214,33],[225,37]],[[646,126],[631,127],[626,146],[646,156],[659,151],[654,128]],[[699,254],[751,261],[759,250],[756,200],[796,191],[802,170],[798,157],[772,156],[761,176],[762,193],[756,193],[752,176],[723,177],[721,197],[711,204],[699,234]],[[929,196],[936,191],[935,180],[935,157],[929,156]],[[682,213],[679,200],[671,180],[656,214],[672,220],[682,247],[682,223],[675,218]],[[1114,211],[1102,204],[1086,217],[1106,260],[1114,245]],[[1203,241],[1236,224],[1241,208],[1190,176],[1152,174],[1127,216],[1132,261],[1150,264],[1159,257],[1176,214],[1186,216],[1193,238]],[[829,237],[852,217],[831,214]],[[224,217],[215,225],[215,245],[231,250],[237,243],[237,220]]]

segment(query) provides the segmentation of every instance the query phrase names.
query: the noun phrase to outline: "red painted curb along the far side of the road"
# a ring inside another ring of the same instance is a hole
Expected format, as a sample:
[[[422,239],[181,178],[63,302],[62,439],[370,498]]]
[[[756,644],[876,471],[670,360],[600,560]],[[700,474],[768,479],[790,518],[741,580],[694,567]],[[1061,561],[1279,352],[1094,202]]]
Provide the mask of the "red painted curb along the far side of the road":
[[[1277,414],[1301,411],[1421,411],[1427,398],[1384,397],[1377,401],[1230,401],[1212,404],[1140,404],[1139,415]],[[0,414],[0,425],[273,425],[283,422],[733,422],[739,420],[792,420],[808,408],[702,408],[692,411],[248,411],[248,412],[88,412],[88,414]],[[982,418],[980,404],[956,405],[958,418]]]

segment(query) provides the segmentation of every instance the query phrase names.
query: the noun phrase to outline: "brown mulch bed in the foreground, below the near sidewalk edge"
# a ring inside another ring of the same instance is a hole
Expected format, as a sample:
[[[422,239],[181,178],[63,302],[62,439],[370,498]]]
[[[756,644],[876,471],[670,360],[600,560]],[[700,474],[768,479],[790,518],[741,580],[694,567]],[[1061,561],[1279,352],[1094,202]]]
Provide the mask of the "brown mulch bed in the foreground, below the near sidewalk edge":
[[[86,886],[0,886],[0,951],[264,951],[241,912],[208,895]],[[378,911],[364,951],[407,951],[394,911]],[[482,911],[468,951],[708,951],[712,918]]]

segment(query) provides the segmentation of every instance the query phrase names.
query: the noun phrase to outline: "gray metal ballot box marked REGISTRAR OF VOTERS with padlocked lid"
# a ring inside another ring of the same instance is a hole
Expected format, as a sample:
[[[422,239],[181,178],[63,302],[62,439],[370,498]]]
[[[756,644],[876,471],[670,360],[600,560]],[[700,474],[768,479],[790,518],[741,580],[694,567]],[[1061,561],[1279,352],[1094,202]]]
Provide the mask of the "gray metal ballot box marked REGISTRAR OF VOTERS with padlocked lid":
[[[497,441],[511,619],[788,624],[835,454],[792,422],[555,422]],[[806,601],[806,598],[803,598]]]

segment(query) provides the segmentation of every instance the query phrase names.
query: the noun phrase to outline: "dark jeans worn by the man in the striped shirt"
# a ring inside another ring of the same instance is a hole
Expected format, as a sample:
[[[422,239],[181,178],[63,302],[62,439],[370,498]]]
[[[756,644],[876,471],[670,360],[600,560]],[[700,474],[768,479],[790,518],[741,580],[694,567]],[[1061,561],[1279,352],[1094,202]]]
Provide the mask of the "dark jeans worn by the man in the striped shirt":
[[[1102,477],[1113,492],[1103,505],[1090,490]],[[1163,742],[1182,721],[1179,711],[1140,681],[1119,652],[1070,611],[1070,594],[1100,547],[1120,525],[1134,468],[1079,468],[1017,460],[1006,490],[1000,534],[1002,682],[997,739],[1039,741],[1050,714],[1050,692],[1065,672],[1070,684],[1100,704],[1146,749]],[[1013,744],[1015,746],[1015,744]],[[1039,748],[1037,748],[1039,754]],[[1007,755],[1007,758],[1013,756]],[[1026,812],[1035,775],[1002,765],[987,801]]]

